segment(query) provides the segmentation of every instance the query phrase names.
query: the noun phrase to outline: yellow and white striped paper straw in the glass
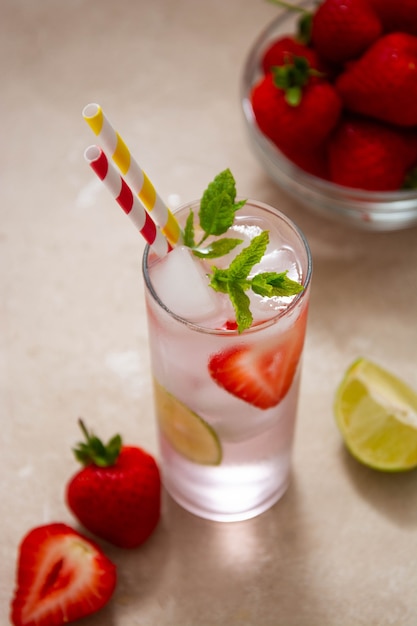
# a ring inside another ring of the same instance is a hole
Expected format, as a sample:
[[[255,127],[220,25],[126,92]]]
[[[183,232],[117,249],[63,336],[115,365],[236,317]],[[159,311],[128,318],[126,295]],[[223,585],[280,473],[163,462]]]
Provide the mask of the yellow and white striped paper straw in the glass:
[[[83,118],[91,130],[102,142],[104,149],[110,154],[126,182],[136,193],[145,208],[159,225],[162,233],[172,246],[181,240],[181,229],[174,215],[168,209],[155,187],[133,158],[129,148],[113,128],[103,109],[98,104],[87,104],[83,109]]]

